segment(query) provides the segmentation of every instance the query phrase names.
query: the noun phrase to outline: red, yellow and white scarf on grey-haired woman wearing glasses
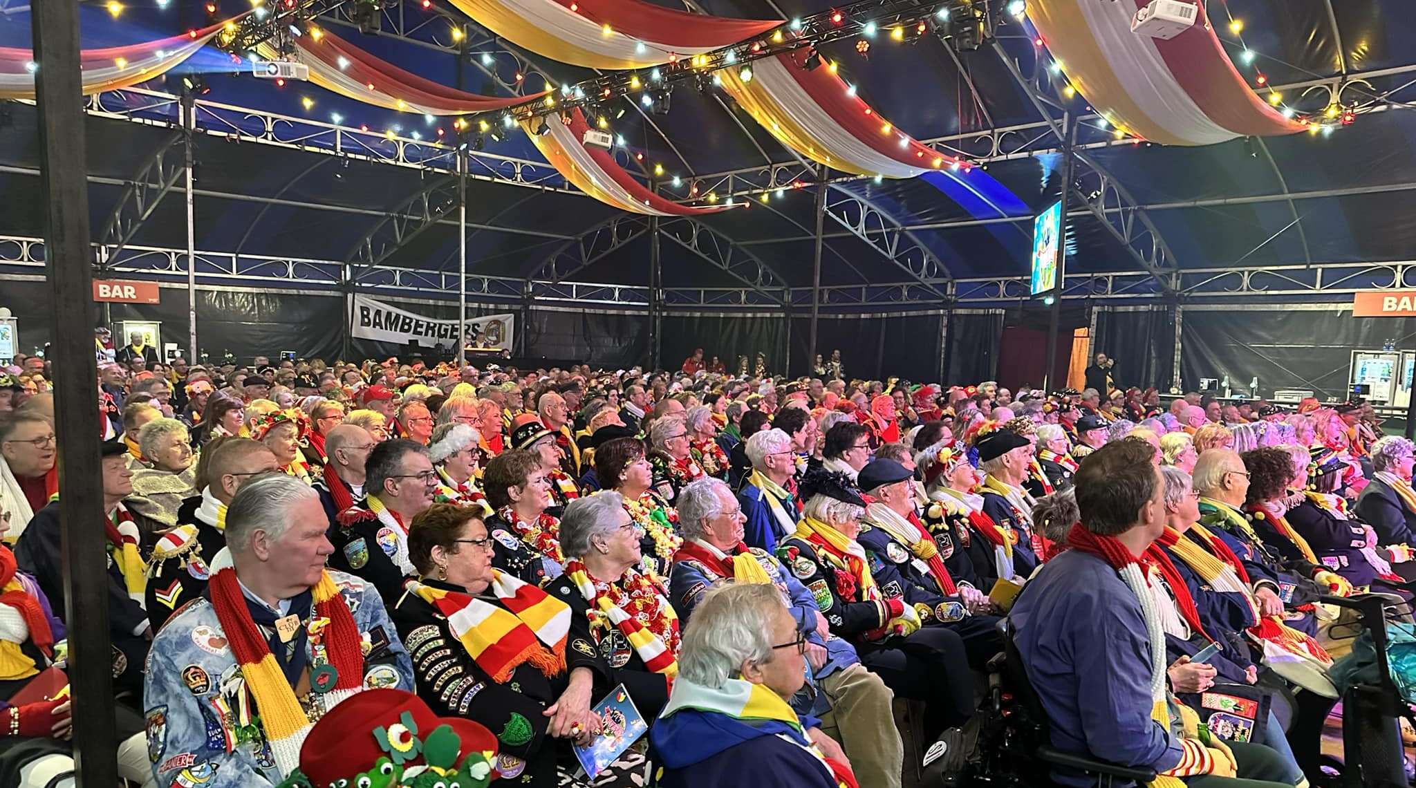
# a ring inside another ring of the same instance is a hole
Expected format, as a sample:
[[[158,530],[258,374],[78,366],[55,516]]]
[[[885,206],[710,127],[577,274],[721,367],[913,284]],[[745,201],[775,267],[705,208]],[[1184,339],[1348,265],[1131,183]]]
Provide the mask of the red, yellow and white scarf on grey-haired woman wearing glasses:
[[[565,564],[565,574],[590,603],[590,625],[607,621],[629,638],[630,647],[644,661],[644,665],[673,680],[678,675],[678,614],[664,598],[664,590],[634,569],[615,583],[599,583],[579,560]],[[636,614],[626,611],[637,607]],[[643,618],[640,617],[643,615]]]

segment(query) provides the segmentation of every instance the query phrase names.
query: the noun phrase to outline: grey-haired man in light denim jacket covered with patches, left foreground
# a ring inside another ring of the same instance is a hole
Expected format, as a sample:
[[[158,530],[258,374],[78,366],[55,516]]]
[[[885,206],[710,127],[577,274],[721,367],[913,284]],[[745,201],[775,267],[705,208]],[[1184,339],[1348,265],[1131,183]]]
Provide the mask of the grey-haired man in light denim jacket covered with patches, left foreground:
[[[278,784],[313,720],[365,688],[413,689],[382,598],[324,569],[333,547],[309,485],[256,477],[227,515],[207,596],[153,641],[143,707],[160,785]]]

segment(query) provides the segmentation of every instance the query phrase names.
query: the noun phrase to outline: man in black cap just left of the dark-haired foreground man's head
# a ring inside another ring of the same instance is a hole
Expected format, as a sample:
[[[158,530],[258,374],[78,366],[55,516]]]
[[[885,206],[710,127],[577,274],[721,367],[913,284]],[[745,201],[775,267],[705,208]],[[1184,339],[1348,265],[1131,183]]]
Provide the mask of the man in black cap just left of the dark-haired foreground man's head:
[[[1032,531],[1032,506],[1037,501],[1022,487],[1032,461],[1028,439],[1010,431],[993,430],[974,439],[978,450],[978,470],[986,475],[978,492],[983,514],[995,528],[980,528],[977,535],[994,545],[1012,542],[1012,566],[998,567],[998,577],[1028,577],[1042,563],[1045,542]]]

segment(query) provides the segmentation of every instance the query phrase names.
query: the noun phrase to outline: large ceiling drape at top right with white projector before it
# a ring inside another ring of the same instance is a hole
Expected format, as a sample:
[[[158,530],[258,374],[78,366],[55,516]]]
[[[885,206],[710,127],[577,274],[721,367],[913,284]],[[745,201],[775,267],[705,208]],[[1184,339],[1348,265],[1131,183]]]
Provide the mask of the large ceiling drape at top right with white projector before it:
[[[1147,0],[1035,0],[1028,18],[1068,78],[1129,134],[1178,146],[1301,132],[1235,69],[1204,3],[1189,30],[1163,41],[1131,33]]]

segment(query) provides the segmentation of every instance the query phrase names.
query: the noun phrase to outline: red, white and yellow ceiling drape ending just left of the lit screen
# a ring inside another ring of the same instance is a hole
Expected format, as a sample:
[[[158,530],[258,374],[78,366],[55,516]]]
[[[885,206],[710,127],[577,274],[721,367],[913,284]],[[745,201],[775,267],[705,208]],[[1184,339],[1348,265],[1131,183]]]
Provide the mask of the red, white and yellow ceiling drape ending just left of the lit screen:
[[[807,55],[799,50],[753,61],[748,81],[733,68],[716,74],[724,91],[782,144],[833,170],[913,178],[956,161],[875,115],[830,66],[807,71]]]

